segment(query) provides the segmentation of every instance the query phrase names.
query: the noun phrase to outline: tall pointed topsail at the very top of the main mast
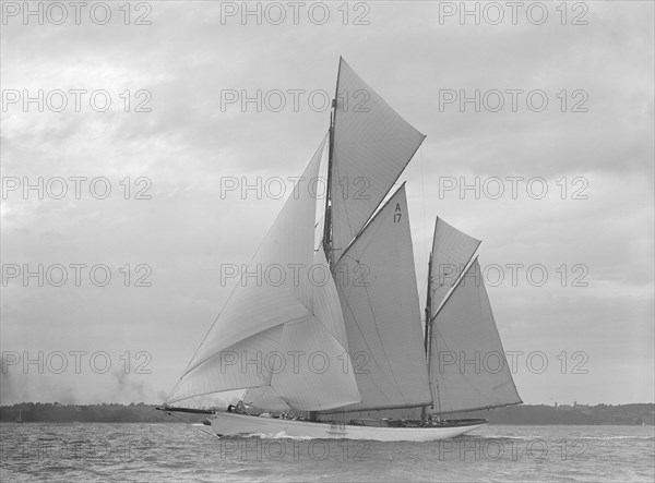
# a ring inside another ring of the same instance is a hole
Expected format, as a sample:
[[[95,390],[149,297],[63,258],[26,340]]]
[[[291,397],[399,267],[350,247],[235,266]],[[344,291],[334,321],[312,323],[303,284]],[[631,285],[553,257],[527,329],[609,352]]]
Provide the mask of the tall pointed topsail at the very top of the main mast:
[[[333,259],[343,255],[424,138],[341,59],[331,173]]]

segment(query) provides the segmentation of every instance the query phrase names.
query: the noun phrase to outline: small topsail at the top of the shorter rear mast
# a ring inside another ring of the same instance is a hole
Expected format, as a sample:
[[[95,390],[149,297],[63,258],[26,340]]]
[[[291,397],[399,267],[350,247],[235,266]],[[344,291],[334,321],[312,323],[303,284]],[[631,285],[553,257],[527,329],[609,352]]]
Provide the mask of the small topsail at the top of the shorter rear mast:
[[[457,282],[462,270],[468,265],[479,244],[480,240],[476,240],[441,218],[437,218],[430,267],[430,310],[432,314],[437,313],[450,289]]]

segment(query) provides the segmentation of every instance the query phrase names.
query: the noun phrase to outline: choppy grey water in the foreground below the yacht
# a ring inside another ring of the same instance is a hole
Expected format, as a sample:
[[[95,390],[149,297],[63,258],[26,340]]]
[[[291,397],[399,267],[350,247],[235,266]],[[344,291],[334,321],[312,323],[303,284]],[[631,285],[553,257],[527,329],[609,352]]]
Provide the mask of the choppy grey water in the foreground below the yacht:
[[[653,426],[486,426],[433,443],[218,439],[187,424],[2,424],[10,481],[648,481]]]

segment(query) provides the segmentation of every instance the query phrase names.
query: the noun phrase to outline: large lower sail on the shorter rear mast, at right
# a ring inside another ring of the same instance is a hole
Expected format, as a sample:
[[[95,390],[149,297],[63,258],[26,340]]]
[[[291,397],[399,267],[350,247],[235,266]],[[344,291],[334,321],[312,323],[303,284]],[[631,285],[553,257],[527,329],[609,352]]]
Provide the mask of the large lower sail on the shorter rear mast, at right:
[[[432,322],[430,379],[436,411],[521,402],[476,261]]]

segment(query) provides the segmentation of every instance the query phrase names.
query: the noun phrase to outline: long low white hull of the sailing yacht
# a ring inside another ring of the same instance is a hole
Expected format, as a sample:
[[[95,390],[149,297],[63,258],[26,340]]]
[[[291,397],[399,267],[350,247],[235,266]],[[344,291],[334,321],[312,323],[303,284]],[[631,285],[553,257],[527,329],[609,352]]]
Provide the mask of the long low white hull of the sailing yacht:
[[[212,428],[218,436],[289,436],[323,439],[376,439],[380,442],[431,442],[460,436],[485,423],[457,426],[380,427],[312,423],[248,414],[217,412],[212,415]]]

